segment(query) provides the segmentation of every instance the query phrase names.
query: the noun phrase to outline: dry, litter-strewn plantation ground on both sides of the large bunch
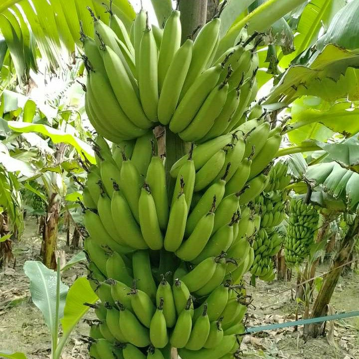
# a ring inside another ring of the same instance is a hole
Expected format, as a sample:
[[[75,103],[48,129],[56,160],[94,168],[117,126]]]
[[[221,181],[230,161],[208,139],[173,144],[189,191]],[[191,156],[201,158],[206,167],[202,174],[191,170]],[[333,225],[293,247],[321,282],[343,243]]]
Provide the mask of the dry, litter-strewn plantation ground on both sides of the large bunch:
[[[26,222],[22,239],[15,243],[13,252],[16,257],[13,263],[0,273],[0,349],[25,352],[30,359],[49,358],[50,341],[47,328],[44,325],[38,309],[32,305],[28,280],[22,266],[26,260],[37,260],[40,238],[34,236],[36,223],[33,218]],[[64,235],[60,235],[60,249],[65,246]],[[67,254],[67,260],[74,253]],[[326,267],[319,268],[323,272]],[[71,284],[86,269],[77,265],[64,273],[62,279]],[[246,278],[248,280],[249,278]],[[296,303],[291,300],[291,282],[257,282],[257,287],[249,285],[248,294],[254,298],[256,310],[249,310],[249,325],[263,325],[282,321],[294,320]],[[341,278],[334,293],[332,305],[337,311],[354,311],[359,309],[359,274],[350,274]],[[301,314],[301,309],[299,311]],[[89,313],[88,318],[92,318]],[[252,353],[254,358],[284,358],[284,359],[358,359],[359,358],[359,318],[350,318],[331,325],[326,338],[304,340],[302,328],[294,332],[294,328],[272,331],[266,334],[245,336],[242,348]],[[79,340],[81,335],[87,335],[88,326],[81,322],[73,333],[63,359],[88,358],[86,345]]]

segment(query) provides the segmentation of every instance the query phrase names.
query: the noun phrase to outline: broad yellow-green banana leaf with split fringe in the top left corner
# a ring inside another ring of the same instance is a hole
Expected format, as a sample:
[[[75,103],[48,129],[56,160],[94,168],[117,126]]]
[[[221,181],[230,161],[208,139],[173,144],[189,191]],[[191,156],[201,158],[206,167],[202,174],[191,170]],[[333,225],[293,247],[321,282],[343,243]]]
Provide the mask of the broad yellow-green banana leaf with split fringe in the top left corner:
[[[65,65],[63,50],[69,57],[75,45],[81,47],[80,21],[84,32],[93,36],[93,19],[87,6],[108,22],[106,6],[110,6],[110,0],[4,0],[0,3],[0,31],[19,81],[28,79],[30,69],[37,70],[36,44],[41,56],[52,68],[57,68]],[[112,11],[129,29],[135,17],[130,2],[112,0]]]

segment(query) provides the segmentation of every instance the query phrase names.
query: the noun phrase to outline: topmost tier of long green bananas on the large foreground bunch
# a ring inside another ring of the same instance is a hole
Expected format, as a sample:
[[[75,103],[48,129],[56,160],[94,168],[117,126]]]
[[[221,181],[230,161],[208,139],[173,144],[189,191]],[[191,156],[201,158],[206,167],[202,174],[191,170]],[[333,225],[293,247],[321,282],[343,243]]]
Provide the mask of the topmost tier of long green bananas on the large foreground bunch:
[[[151,26],[141,10],[131,34],[115,14],[109,24],[91,14],[94,38],[82,34],[86,112],[104,138],[119,143],[162,124],[183,141],[199,143],[244,121],[256,95],[256,34],[248,36],[243,28],[235,45],[222,53],[219,17],[181,45],[177,10],[163,30]]]

